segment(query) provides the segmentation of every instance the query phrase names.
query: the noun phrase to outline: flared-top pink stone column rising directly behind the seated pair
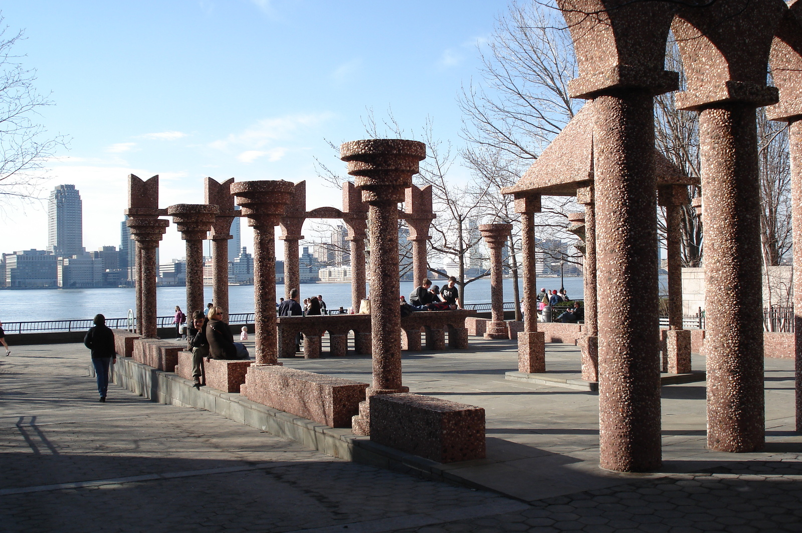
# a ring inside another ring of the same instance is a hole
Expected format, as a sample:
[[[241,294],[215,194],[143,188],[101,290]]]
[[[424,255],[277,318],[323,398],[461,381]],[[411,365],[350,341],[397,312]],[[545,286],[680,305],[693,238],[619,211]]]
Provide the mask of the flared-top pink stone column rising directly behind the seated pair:
[[[188,317],[187,325],[190,335],[196,333],[192,325],[192,313],[205,309],[203,297],[203,241],[212,228],[219,211],[217,205],[209,204],[176,204],[167,208],[167,214],[172,216],[173,224],[176,224],[176,228],[181,232],[181,238],[186,241],[187,306],[184,309],[186,309]],[[217,301],[214,303],[215,305],[220,305]],[[228,313],[228,309],[225,309],[225,312]]]

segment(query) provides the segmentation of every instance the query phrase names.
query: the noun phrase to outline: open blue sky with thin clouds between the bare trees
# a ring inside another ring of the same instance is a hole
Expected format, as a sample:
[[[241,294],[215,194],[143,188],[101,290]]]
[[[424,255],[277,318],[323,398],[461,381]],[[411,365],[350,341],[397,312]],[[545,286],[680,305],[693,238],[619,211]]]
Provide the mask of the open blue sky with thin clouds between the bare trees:
[[[14,51],[55,104],[39,121],[70,139],[47,161],[41,195],[75,184],[83,245],[93,250],[119,247],[128,174],[160,176],[161,208],[203,203],[205,176],[306,180],[308,209],[340,208],[340,192],[318,178],[315,159],[344,170],[327,141],[365,138],[368,110],[381,119],[391,109],[406,130],[429,117],[435,136],[458,146],[457,97],[480,76],[477,46],[506,7],[479,0],[6,0],[2,16],[6,37],[24,30]],[[468,171],[455,168],[452,176],[465,180]],[[7,206],[0,224],[0,252],[47,246],[43,202]],[[251,249],[242,225],[242,244]],[[160,261],[182,256],[171,224]]]

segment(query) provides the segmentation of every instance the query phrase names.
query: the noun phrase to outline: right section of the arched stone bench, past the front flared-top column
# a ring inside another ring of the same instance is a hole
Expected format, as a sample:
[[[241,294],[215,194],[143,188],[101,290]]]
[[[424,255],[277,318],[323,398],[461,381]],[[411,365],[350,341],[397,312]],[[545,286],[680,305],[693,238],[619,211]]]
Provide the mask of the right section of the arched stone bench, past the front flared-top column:
[[[452,349],[468,348],[468,329],[465,322],[475,317],[473,309],[456,309],[454,311],[415,311],[408,317],[401,318],[401,349],[419,351],[422,331],[426,332],[426,349],[446,349],[446,333],[448,347]]]

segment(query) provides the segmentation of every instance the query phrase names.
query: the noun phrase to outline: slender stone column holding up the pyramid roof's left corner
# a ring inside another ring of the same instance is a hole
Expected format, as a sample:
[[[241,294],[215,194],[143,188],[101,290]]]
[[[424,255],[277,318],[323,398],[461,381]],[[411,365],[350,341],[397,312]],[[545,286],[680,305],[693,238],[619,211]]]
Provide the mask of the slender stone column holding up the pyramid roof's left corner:
[[[521,271],[524,277],[524,331],[518,333],[518,371],[539,374],[546,371],[545,336],[537,331],[537,273],[535,255],[535,213],[541,212],[540,196],[515,199],[520,213]]]

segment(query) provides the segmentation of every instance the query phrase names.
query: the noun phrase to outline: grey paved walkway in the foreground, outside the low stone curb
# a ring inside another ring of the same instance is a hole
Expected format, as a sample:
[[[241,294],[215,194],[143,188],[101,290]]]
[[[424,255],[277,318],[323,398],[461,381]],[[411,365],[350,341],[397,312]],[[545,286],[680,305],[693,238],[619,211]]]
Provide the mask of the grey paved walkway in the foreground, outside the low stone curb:
[[[526,505],[331,458],[114,385],[101,404],[87,363],[80,345],[18,347],[0,360],[3,533],[802,531],[796,448]]]

